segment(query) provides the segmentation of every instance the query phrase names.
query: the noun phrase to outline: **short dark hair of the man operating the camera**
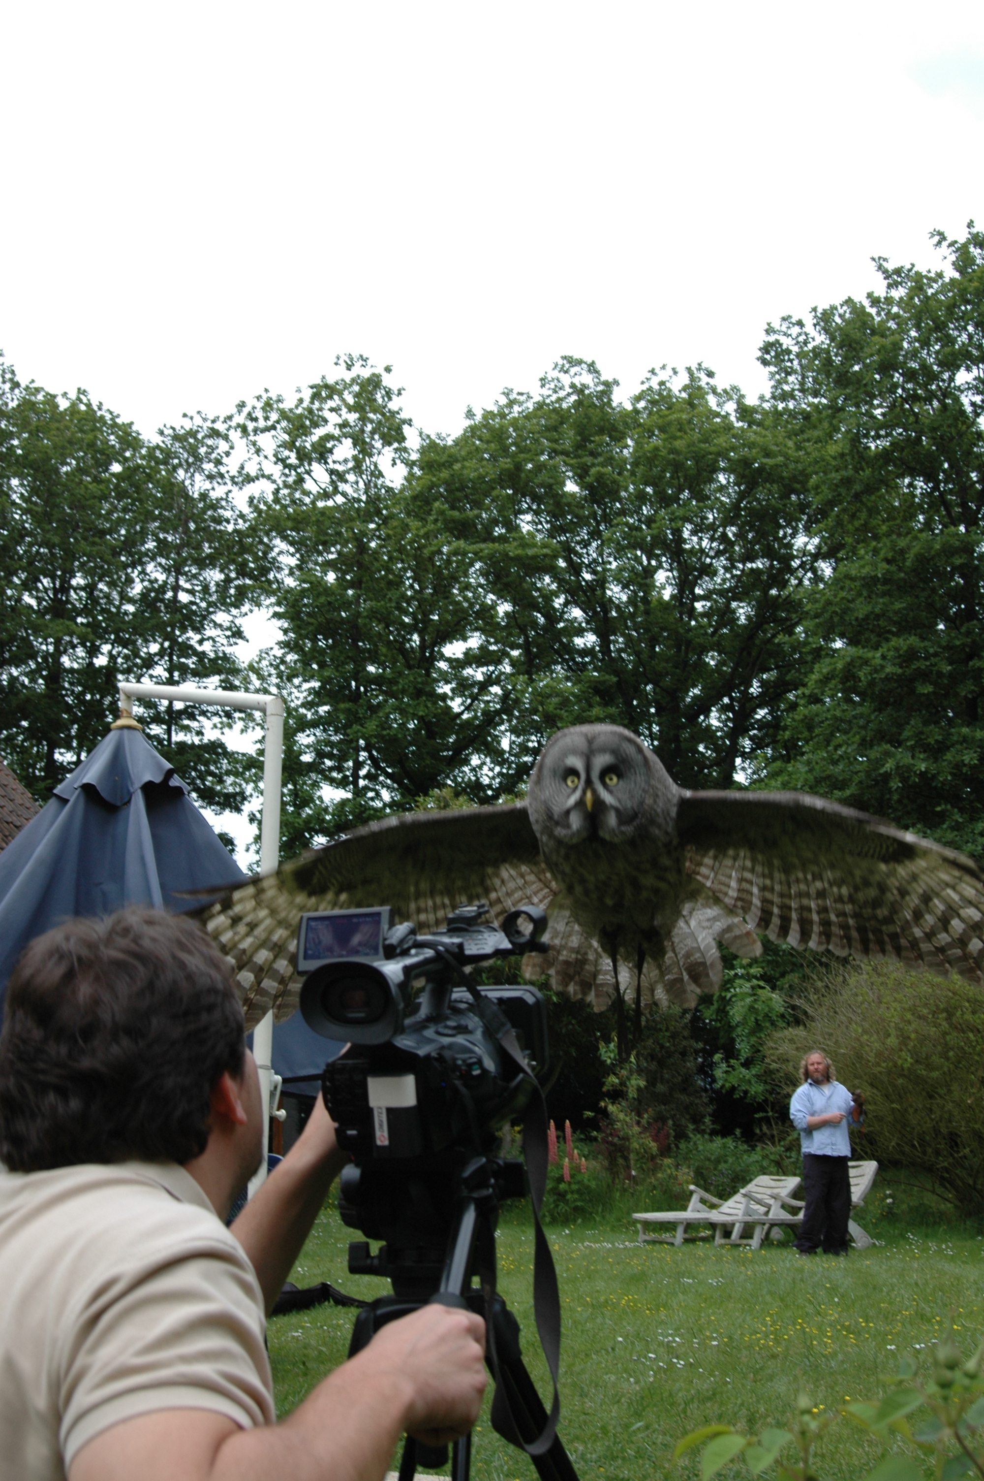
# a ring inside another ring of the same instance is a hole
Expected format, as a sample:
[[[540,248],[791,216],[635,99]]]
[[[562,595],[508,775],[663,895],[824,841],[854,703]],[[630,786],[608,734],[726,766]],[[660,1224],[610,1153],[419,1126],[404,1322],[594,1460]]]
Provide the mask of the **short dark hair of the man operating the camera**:
[[[0,1034],[0,1160],[34,1173],[127,1158],[188,1163],[210,1093],[238,1077],[243,1010],[191,921],[129,908],[33,940]]]

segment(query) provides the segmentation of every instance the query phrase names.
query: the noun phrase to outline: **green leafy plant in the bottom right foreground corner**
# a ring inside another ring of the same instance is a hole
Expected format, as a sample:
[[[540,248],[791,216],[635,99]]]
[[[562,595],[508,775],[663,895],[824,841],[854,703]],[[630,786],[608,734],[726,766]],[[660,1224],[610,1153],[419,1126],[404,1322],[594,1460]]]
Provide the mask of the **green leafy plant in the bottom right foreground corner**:
[[[729,1425],[704,1425],[678,1442],[673,1459],[679,1460],[694,1445],[703,1445],[701,1481],[710,1481],[710,1477],[738,1456],[753,1477],[775,1465],[780,1481],[817,1481],[814,1445],[832,1423],[846,1417],[882,1445],[882,1459],[866,1481],[923,1481],[926,1462],[932,1462],[934,1481],[959,1481],[965,1475],[984,1481],[983,1360],[984,1342],[965,1363],[948,1333],[937,1343],[932,1374],[925,1382],[917,1379],[913,1360],[904,1357],[891,1392],[879,1403],[852,1403],[839,1411],[824,1410],[801,1391],[789,1429],[764,1429],[756,1437],[743,1435]],[[928,1413],[913,1428],[917,1410]],[[911,1445],[919,1459],[889,1451],[888,1442],[894,1435]],[[793,1445],[799,1456],[780,1459]]]

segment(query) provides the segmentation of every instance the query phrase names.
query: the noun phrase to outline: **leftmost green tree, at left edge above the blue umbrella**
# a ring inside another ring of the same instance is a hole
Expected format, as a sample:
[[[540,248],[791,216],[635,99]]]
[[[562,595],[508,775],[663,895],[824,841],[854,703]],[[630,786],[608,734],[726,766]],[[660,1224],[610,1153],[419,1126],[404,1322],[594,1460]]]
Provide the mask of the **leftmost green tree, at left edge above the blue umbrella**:
[[[46,798],[105,735],[133,658],[148,538],[144,444],[84,392],[3,369],[4,622],[0,745]]]

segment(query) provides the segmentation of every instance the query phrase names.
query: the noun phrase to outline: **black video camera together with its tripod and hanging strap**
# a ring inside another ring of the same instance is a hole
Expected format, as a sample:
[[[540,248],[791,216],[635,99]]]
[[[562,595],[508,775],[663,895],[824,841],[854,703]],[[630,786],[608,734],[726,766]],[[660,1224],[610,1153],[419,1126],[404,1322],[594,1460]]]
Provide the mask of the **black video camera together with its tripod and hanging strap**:
[[[499,930],[482,921],[487,914],[485,903],[459,905],[447,927],[429,936],[391,926],[386,906],[300,920],[302,1016],[324,1038],[349,1046],[321,1078],[339,1146],[352,1154],[342,1170],[339,1214],[367,1235],[349,1244],[349,1272],[388,1277],[394,1288],[360,1311],[349,1357],[382,1324],[428,1300],[479,1312],[496,1377],[493,1428],[528,1453],[542,1481],[577,1481],[556,1434],[561,1308],[539,1214],[547,1163],[540,1089],[549,1065],[546,1004],[536,988],[479,988],[465,970],[546,951],[546,915],[524,905]],[[524,1164],[499,1155],[502,1129],[521,1114],[530,1186]],[[522,1361],[519,1324],[496,1291],[499,1204],[528,1191],[534,1315],[553,1383],[549,1413]],[[383,1241],[376,1254],[368,1240]],[[445,1460],[447,1447],[408,1437],[400,1478]],[[454,1442],[454,1481],[468,1481],[469,1465],[465,1435]]]

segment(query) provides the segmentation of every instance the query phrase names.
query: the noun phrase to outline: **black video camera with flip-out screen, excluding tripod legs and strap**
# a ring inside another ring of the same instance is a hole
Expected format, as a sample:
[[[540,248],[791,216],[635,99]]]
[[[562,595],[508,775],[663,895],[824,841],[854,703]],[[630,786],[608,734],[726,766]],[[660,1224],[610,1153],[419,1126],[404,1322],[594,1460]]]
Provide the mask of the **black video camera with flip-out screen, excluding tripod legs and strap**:
[[[377,1254],[349,1246],[349,1271],[386,1275],[397,1294],[435,1287],[469,1164],[493,1169],[497,1200],[525,1194],[522,1164],[496,1154],[533,1093],[531,1075],[546,1074],[546,1006],[536,988],[475,988],[465,967],[546,951],[546,915],[527,905],[499,930],[482,923],[487,914],[484,903],[460,905],[429,936],[391,927],[386,906],[300,921],[300,1012],[315,1032],[351,1046],[323,1075],[339,1146],[354,1158],[339,1214],[385,1241]],[[503,1049],[509,1028],[525,1072]]]

